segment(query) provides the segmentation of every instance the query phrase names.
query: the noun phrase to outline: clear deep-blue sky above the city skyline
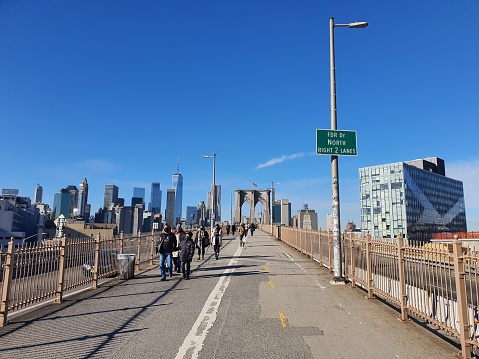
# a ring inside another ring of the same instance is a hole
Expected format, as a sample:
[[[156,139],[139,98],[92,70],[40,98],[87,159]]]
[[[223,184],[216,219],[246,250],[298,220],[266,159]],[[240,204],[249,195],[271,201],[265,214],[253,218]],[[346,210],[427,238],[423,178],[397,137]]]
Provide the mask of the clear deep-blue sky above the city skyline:
[[[360,167],[437,156],[478,231],[477,0],[1,1],[0,188],[39,183],[52,205],[86,177],[96,211],[105,184],[128,203],[160,182],[164,202],[179,157],[186,208],[216,153],[224,220],[228,193],[274,181],[324,228],[330,17],[369,23],[335,29],[338,129],[358,138],[339,159],[342,227],[360,224]]]

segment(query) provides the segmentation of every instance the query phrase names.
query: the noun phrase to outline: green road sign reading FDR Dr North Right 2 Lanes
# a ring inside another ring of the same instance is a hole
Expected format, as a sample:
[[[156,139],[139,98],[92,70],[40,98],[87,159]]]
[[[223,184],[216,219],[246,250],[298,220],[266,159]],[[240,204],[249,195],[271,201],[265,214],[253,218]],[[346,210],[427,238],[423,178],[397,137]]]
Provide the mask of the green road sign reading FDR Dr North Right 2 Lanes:
[[[357,156],[356,131],[316,129],[316,154]]]

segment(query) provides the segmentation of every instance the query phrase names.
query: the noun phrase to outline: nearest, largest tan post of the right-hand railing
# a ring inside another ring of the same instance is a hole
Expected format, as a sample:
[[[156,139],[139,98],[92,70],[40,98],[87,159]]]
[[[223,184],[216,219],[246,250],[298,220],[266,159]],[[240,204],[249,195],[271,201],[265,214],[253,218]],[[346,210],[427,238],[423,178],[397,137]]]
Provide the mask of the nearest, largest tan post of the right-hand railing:
[[[459,316],[459,338],[461,341],[461,357],[471,358],[471,345],[467,342],[470,325],[467,319],[466,271],[462,257],[462,243],[454,235],[453,258],[454,275],[456,279],[457,311]]]

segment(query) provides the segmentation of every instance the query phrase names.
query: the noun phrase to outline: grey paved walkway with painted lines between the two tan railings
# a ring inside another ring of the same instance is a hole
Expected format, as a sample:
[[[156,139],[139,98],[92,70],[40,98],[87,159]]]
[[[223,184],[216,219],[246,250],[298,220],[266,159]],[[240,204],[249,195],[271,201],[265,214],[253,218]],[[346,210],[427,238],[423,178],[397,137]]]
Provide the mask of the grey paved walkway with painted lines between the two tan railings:
[[[269,234],[225,236],[190,280],[158,266],[19,313],[0,358],[453,358],[460,346]]]

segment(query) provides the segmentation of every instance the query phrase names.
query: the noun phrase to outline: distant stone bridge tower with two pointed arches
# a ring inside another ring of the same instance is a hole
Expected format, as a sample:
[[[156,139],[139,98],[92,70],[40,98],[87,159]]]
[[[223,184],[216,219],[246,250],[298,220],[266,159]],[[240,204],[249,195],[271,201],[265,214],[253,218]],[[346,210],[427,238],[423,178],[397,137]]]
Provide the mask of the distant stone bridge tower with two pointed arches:
[[[271,224],[271,190],[254,190],[254,189],[236,189],[235,190],[235,218],[234,223],[241,223],[241,207],[247,202],[249,204],[249,223],[254,222],[254,209],[258,202],[263,204],[264,217],[263,223]]]

